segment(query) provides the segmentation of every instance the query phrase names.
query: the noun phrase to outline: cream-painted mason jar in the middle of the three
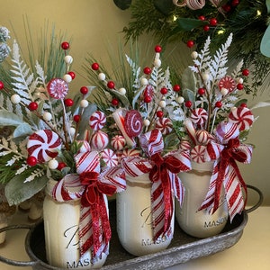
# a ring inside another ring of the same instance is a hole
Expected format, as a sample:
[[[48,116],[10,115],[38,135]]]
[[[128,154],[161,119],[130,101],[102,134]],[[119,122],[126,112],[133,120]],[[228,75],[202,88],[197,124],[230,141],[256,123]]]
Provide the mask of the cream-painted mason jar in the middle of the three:
[[[157,238],[154,242],[148,174],[137,177],[126,175],[126,182],[126,190],[116,194],[117,233],[122,247],[138,257],[166,249],[173,238],[175,214],[170,223],[170,235]]]

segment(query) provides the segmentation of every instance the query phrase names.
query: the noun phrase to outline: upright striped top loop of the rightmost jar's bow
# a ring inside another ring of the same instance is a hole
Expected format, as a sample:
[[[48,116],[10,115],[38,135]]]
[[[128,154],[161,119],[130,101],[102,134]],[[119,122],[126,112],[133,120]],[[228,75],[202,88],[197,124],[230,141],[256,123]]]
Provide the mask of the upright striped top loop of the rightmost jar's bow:
[[[235,139],[239,135],[238,125],[231,121],[220,121],[216,128],[216,137],[222,144],[227,144],[229,139]]]

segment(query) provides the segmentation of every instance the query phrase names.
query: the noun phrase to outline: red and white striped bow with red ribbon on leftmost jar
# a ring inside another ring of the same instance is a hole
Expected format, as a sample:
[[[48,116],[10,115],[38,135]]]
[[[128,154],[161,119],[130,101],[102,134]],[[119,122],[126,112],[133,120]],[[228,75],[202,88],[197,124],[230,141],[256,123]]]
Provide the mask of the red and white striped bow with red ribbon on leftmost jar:
[[[75,156],[77,174],[66,175],[53,189],[58,202],[81,200],[79,250],[82,257],[90,249],[92,260],[108,253],[112,236],[104,194],[112,195],[126,188],[125,174],[120,167],[108,167],[100,173],[98,152]]]

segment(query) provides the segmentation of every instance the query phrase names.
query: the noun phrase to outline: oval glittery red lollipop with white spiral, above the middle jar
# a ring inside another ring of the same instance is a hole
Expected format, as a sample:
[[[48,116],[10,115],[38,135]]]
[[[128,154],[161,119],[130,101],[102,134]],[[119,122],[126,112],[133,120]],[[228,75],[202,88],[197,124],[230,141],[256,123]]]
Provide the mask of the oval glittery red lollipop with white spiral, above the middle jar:
[[[142,130],[143,122],[141,115],[136,110],[130,110],[126,112],[124,118],[124,128],[130,137],[139,136]]]

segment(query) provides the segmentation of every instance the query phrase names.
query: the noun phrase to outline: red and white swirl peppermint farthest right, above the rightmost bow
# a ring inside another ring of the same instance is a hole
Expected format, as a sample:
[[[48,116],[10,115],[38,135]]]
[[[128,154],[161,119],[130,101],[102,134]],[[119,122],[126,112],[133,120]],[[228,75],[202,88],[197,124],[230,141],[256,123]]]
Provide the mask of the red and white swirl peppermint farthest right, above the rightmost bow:
[[[249,130],[254,116],[247,107],[238,107],[236,110],[229,112],[229,121],[238,124],[240,131]]]

